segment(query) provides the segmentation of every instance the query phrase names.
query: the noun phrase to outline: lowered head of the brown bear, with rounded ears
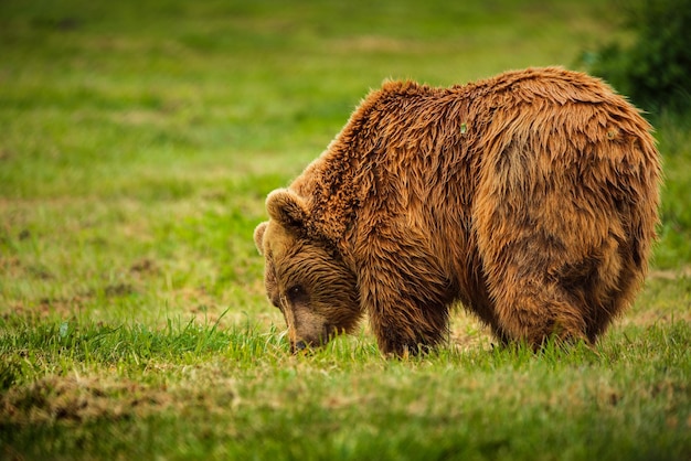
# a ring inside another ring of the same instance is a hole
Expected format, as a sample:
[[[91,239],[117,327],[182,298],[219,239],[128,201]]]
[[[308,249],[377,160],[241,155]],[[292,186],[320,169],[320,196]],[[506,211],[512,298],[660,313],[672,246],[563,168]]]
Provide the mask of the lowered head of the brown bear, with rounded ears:
[[[284,314],[291,351],[351,333],[362,317],[355,275],[332,245],[308,232],[305,201],[281,189],[268,195],[266,210],[269,221],[256,227],[254,242],[265,257],[266,293]]]

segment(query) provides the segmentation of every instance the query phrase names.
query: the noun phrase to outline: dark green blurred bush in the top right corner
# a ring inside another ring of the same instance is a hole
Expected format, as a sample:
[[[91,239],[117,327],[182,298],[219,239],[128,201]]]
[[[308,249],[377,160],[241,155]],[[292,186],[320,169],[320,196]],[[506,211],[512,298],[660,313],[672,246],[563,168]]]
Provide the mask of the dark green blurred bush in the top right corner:
[[[691,111],[691,0],[637,0],[620,7],[634,42],[586,54],[588,71],[652,114]]]

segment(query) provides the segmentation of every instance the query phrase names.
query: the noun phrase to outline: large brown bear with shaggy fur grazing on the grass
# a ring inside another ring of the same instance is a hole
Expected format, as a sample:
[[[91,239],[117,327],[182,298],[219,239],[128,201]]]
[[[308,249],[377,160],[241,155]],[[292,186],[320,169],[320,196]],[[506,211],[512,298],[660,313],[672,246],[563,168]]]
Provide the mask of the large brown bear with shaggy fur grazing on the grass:
[[[439,343],[460,302],[503,343],[594,343],[656,237],[651,127],[606,84],[529,68],[389,82],[266,200],[254,238],[293,350],[369,315],[379,347]]]

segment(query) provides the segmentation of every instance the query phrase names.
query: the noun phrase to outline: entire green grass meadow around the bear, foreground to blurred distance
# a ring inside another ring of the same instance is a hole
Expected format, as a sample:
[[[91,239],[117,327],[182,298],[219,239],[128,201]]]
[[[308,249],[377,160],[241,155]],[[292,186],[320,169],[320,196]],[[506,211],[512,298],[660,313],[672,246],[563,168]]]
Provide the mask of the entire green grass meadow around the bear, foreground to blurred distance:
[[[264,197],[384,78],[574,66],[615,6],[0,3],[0,455],[688,459],[691,120],[656,117],[661,239],[594,350],[428,356],[366,328],[293,356],[252,242]]]

